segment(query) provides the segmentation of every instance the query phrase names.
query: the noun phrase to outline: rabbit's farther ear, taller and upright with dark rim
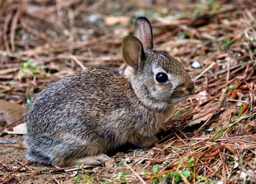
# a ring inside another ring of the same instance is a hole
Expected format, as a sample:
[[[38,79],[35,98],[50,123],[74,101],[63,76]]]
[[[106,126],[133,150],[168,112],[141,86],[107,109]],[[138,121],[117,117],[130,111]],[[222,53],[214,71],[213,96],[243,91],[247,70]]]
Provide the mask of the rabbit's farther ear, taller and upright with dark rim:
[[[142,42],[145,50],[153,49],[152,28],[146,17],[139,17],[136,19],[134,36]]]

